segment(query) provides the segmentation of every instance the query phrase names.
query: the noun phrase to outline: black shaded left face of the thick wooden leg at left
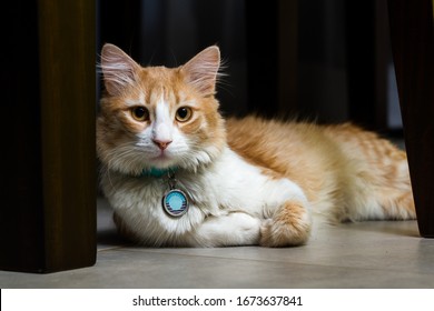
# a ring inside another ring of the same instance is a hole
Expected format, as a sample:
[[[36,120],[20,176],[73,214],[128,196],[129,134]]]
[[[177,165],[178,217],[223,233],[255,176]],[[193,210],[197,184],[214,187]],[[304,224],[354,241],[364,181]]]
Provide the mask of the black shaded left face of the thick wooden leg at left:
[[[38,271],[43,200],[37,1],[9,1],[2,16],[0,268]]]

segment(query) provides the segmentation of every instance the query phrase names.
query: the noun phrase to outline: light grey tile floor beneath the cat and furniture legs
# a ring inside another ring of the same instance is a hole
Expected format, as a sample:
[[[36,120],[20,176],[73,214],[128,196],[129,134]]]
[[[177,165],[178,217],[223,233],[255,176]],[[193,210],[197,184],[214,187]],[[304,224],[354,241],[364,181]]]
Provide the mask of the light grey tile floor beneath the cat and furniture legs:
[[[98,210],[95,267],[0,271],[0,288],[434,288],[434,239],[415,221],[326,225],[299,248],[145,249],[117,237],[103,199]]]

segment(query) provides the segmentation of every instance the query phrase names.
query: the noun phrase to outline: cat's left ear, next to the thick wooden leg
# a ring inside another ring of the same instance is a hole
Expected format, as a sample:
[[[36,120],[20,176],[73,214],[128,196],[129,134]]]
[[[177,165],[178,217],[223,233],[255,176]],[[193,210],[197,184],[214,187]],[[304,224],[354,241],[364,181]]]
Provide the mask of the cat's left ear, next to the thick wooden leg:
[[[100,68],[106,90],[117,96],[126,86],[134,83],[140,66],[118,47],[106,43],[101,50]]]

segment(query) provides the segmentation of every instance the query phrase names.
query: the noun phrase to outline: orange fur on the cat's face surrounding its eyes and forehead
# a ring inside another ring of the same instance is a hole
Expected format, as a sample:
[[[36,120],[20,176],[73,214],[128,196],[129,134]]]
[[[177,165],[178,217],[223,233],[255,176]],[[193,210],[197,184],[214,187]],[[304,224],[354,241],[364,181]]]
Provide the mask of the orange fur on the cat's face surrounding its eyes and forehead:
[[[188,122],[176,126],[185,133],[194,136],[200,144],[213,144],[221,149],[226,141],[224,121],[217,113],[218,102],[214,97],[203,97],[185,82],[186,72],[183,67],[170,69],[165,67],[137,68],[135,84],[126,86],[116,96],[105,94],[101,99],[101,113],[97,120],[97,149],[102,162],[112,158],[115,146],[128,141],[128,136],[137,134],[150,126],[135,121],[130,114],[134,106],[145,107],[154,118],[158,100],[162,97],[175,111],[183,106],[193,109],[193,118]],[[130,102],[130,106],[126,103]],[[139,173],[142,167],[125,168],[131,173]]]

